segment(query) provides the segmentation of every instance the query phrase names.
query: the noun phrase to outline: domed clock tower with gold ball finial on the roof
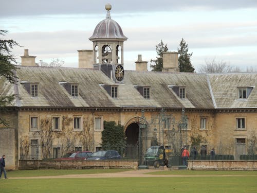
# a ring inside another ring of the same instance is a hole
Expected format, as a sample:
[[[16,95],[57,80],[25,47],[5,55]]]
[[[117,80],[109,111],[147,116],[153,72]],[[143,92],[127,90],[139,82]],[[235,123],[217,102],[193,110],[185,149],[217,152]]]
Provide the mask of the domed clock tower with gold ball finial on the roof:
[[[111,4],[106,4],[106,19],[97,24],[93,35],[94,68],[103,71],[116,83],[121,83],[123,70],[123,42],[127,40],[120,25],[111,19]]]

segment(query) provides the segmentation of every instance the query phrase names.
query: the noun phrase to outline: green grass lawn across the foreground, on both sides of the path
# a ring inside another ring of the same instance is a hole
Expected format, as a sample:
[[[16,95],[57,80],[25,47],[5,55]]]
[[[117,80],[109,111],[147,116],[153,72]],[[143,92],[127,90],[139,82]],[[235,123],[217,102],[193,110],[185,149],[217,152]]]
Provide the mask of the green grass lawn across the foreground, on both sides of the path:
[[[23,170],[22,170],[23,171]],[[27,170],[27,175],[42,170]],[[45,170],[51,171],[52,170]],[[53,170],[59,173],[59,170]],[[64,170],[66,172],[72,170]],[[73,170],[94,172],[95,170]],[[118,171],[118,170],[114,170]],[[19,173],[20,171],[17,171]],[[30,173],[31,172],[31,173]],[[63,170],[61,170],[63,172]],[[98,170],[97,172],[113,172],[113,170]],[[186,177],[152,177],[152,178],[70,178],[70,179],[1,179],[0,192],[257,192],[257,172],[253,171],[221,171],[220,175],[212,177],[217,171],[160,171],[159,174],[187,175]],[[94,172],[95,173],[95,172]],[[154,172],[155,174],[157,172]],[[11,175],[11,172],[8,172]],[[35,173],[34,173],[35,174]],[[75,173],[74,173],[75,174]],[[167,173],[168,174],[168,173]],[[249,174],[249,175],[248,175]],[[11,177],[9,175],[9,177]],[[192,177],[206,175],[209,177]],[[245,176],[235,176],[245,175]],[[38,176],[38,175],[36,175]],[[154,175],[153,175],[154,176]]]

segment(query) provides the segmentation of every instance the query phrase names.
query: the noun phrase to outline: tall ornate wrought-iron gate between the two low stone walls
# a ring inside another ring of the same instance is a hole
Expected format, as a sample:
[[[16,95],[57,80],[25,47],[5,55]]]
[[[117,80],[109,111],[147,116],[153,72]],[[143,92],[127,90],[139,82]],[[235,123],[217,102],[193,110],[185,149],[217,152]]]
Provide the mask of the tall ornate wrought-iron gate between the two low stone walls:
[[[176,120],[171,113],[164,109],[146,120],[144,111],[139,124],[139,164],[163,166],[163,156],[169,159],[172,165],[181,165],[181,150],[188,146],[187,142],[187,116],[182,109],[181,117]],[[165,151],[162,153],[162,149]]]

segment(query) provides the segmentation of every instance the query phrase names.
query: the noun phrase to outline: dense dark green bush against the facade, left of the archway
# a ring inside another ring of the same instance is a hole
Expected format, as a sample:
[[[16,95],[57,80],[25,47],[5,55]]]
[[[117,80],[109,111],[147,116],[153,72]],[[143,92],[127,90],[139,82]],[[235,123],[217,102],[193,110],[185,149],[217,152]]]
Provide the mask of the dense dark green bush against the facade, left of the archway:
[[[125,145],[124,128],[121,125],[116,125],[115,121],[104,121],[102,131],[102,147],[109,146],[122,147]]]

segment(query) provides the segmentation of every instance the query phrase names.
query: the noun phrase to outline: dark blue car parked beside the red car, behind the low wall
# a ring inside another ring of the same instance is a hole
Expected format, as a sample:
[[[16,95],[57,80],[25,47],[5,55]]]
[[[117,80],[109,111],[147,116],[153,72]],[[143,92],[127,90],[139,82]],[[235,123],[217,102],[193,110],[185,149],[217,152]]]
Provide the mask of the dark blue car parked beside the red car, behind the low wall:
[[[115,150],[97,151],[87,160],[120,160],[121,155]]]

